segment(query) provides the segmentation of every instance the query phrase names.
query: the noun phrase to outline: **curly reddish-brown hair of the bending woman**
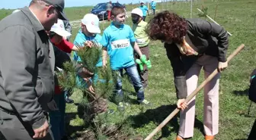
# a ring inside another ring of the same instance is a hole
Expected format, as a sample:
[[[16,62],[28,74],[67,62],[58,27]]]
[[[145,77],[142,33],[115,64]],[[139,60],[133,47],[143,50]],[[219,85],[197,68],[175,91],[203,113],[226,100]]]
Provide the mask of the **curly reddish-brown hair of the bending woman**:
[[[150,39],[181,43],[187,33],[187,22],[170,11],[162,11],[149,21],[146,32]]]

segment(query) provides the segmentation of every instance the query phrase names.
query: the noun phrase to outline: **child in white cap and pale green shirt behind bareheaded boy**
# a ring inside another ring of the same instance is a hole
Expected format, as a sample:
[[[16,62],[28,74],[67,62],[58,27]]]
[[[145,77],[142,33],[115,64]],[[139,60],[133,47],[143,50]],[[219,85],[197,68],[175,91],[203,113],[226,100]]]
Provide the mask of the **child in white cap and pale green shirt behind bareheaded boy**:
[[[148,23],[142,20],[143,12],[139,8],[135,8],[132,11],[132,20],[133,20],[133,32],[136,38],[136,42],[139,45],[140,51],[142,54],[146,55],[147,60],[149,60],[149,36],[146,34],[146,26]],[[139,58],[137,54],[134,55],[136,58]],[[143,70],[139,69],[137,65],[137,70],[139,71],[140,79],[142,80],[143,88],[145,89],[148,86],[148,69],[144,66]]]

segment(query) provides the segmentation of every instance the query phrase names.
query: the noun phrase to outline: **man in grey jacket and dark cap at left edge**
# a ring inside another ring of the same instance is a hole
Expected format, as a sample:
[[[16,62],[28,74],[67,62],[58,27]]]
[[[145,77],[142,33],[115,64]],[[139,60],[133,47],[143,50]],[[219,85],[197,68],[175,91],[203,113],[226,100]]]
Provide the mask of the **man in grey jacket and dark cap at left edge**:
[[[46,31],[66,20],[63,8],[64,0],[32,0],[0,21],[0,131],[8,140],[53,139],[46,112],[54,67],[66,59],[55,58],[63,53]]]

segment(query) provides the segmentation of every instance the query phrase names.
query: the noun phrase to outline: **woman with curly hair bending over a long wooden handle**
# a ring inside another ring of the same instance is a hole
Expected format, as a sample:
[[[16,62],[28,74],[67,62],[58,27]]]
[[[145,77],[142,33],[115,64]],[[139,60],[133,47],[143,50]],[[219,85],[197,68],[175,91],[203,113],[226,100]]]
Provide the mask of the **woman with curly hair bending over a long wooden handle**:
[[[181,109],[178,140],[194,135],[195,98],[184,103],[197,89],[200,70],[208,77],[216,68],[225,69],[228,33],[215,23],[200,19],[184,19],[170,11],[157,14],[149,22],[149,37],[165,42],[174,72],[174,84]],[[205,139],[212,140],[219,126],[219,74],[204,87],[203,124]]]

